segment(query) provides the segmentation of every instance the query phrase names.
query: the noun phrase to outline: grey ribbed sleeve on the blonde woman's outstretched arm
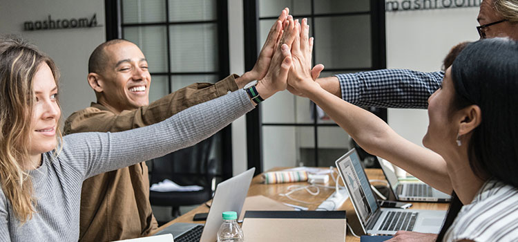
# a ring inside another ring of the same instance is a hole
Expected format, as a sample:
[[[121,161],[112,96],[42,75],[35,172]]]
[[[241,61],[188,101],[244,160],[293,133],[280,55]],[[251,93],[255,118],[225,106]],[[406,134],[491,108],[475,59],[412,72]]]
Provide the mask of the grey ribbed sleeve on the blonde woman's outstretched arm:
[[[72,165],[86,169],[87,178],[195,145],[251,109],[253,104],[247,93],[239,90],[148,127],[66,136],[65,155],[72,153],[75,156],[71,159],[75,160]]]

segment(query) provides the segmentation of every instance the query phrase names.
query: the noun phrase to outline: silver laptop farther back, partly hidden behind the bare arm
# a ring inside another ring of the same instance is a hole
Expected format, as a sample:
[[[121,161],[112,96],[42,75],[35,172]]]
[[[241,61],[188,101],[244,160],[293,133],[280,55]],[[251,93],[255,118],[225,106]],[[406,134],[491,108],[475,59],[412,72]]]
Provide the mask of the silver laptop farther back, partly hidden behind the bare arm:
[[[422,202],[449,202],[452,196],[439,191],[422,181],[399,181],[392,165],[387,160],[378,157],[379,165],[389,183],[390,191],[398,201],[422,201]]]

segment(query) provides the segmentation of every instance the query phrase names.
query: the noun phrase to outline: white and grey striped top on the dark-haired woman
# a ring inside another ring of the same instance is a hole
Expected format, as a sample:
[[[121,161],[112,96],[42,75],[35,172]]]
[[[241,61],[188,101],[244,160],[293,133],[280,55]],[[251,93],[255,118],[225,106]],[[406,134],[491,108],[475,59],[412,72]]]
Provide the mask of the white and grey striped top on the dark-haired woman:
[[[443,239],[460,240],[518,241],[518,188],[497,180],[484,183]]]

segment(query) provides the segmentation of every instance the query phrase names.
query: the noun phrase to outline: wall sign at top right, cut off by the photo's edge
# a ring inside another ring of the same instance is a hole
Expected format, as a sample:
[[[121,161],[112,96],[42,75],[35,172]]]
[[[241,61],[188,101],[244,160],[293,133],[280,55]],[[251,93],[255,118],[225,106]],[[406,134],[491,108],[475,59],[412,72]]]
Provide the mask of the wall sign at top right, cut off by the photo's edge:
[[[432,10],[479,7],[482,0],[386,0],[385,11]]]

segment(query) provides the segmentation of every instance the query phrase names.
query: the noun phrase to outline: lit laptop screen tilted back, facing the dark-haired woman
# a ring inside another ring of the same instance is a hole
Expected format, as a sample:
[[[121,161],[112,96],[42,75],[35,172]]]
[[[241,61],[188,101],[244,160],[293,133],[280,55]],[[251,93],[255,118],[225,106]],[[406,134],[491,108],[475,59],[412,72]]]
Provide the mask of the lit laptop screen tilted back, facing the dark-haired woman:
[[[360,158],[356,149],[352,149],[336,160],[336,167],[347,187],[347,192],[363,223],[364,227],[369,218],[379,209],[376,198],[370,188],[369,180],[361,167]]]

